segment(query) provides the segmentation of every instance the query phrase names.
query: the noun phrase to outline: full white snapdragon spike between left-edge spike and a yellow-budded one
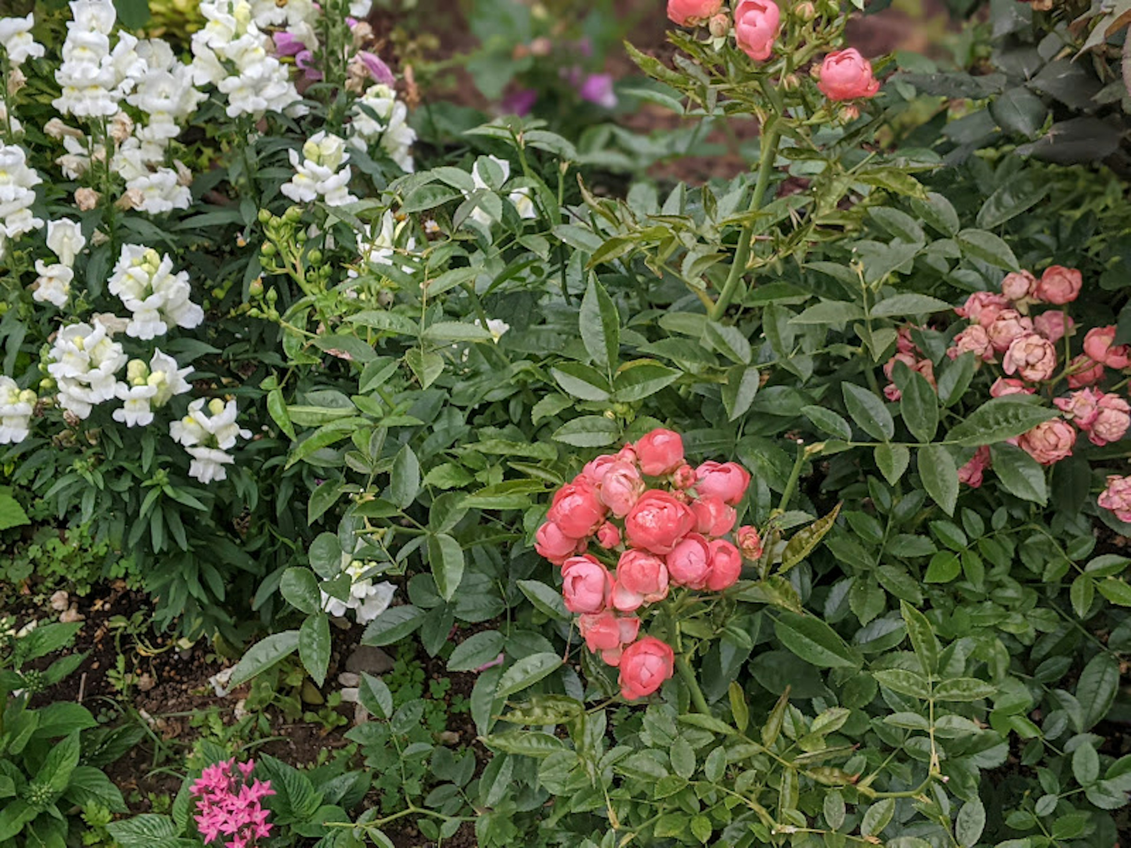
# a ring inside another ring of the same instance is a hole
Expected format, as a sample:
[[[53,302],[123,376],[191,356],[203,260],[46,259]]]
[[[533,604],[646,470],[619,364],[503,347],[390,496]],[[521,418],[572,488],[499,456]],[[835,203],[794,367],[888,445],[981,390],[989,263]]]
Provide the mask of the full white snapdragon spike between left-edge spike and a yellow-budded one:
[[[72,323],[55,336],[48,373],[59,383],[59,405],[79,418],[116,392],[116,374],[126,364],[122,346],[105,325]]]

